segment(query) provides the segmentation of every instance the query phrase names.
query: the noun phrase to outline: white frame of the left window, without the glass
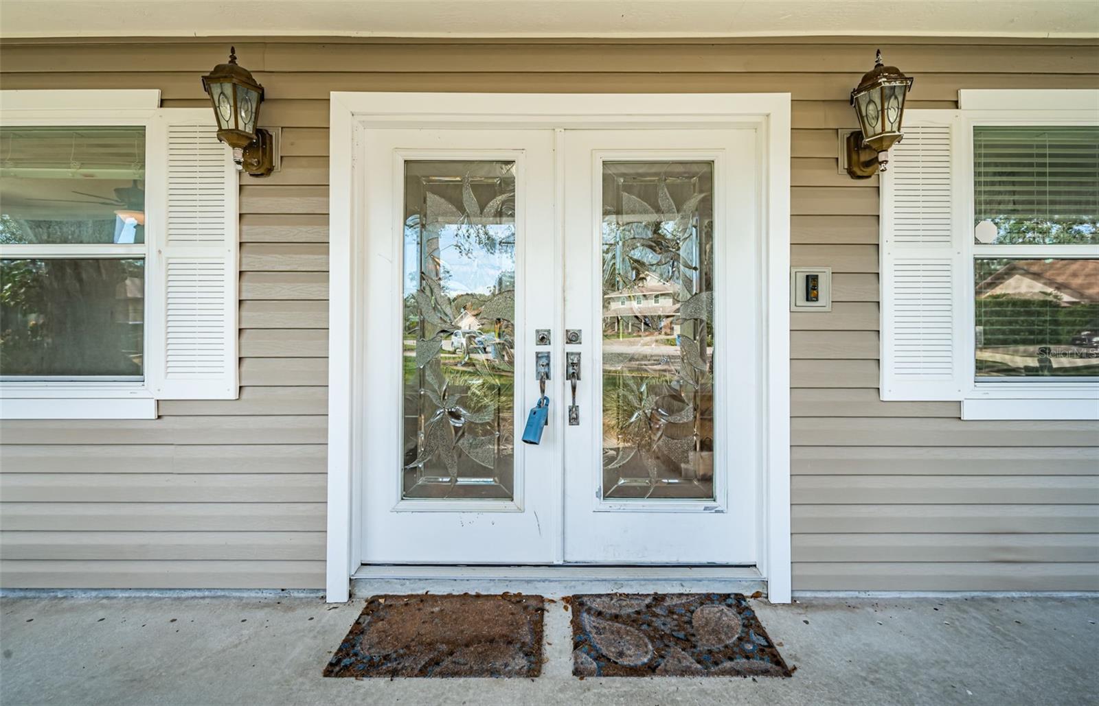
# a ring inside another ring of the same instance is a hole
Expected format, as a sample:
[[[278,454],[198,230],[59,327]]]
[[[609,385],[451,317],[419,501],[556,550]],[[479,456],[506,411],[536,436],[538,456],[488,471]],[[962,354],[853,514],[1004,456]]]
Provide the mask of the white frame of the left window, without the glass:
[[[88,108],[111,105],[109,109]],[[0,380],[0,419],[153,419],[156,399],[151,389],[149,321],[159,310],[153,301],[160,291],[155,255],[165,227],[162,183],[167,168],[160,131],[156,125],[160,91],[44,90],[4,91],[0,125],[21,126],[132,126],[145,130],[145,243],[134,246],[74,246],[65,258],[98,259],[140,257],[145,262],[142,380],[93,378]],[[43,257],[38,245],[0,246],[0,257]],[[56,249],[56,248],[54,248]],[[56,254],[53,257],[58,257]],[[155,365],[155,363],[153,363]]]

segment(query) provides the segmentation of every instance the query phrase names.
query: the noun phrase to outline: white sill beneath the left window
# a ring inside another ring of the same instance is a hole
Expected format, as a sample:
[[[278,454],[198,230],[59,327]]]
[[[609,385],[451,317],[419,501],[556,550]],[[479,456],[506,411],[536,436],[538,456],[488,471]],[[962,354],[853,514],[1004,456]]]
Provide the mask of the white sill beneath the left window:
[[[138,384],[5,383],[0,419],[155,419],[156,399]]]

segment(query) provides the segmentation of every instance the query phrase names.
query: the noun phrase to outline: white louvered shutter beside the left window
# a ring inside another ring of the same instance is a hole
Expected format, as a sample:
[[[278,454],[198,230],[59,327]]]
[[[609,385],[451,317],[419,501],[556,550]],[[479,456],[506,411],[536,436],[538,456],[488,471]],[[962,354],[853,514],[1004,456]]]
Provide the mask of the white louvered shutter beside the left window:
[[[237,397],[237,176],[210,110],[164,110],[159,296],[151,382],[160,400]]]

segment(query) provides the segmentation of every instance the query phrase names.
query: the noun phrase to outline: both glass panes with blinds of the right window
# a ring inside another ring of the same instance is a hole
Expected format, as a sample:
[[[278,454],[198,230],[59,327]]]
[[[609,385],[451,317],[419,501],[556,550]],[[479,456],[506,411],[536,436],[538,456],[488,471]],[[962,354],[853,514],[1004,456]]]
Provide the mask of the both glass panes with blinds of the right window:
[[[1099,378],[1099,126],[976,126],[973,167],[977,381]]]

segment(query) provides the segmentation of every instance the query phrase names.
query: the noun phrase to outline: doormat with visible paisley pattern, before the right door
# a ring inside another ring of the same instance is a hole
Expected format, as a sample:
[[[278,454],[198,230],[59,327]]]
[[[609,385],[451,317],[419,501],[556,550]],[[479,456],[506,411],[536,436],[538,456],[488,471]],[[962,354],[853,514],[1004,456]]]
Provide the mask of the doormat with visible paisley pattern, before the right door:
[[[739,593],[578,595],[577,676],[789,676]]]

